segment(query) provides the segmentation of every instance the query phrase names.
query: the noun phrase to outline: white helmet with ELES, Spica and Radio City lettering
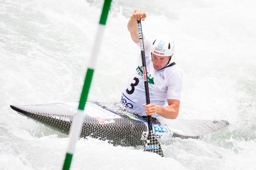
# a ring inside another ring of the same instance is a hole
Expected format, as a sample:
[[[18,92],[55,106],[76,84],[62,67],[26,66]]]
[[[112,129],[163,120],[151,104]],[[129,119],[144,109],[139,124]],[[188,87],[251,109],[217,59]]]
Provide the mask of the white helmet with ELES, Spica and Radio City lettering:
[[[151,45],[151,53],[168,57],[174,53],[174,42],[171,38],[157,38]]]

